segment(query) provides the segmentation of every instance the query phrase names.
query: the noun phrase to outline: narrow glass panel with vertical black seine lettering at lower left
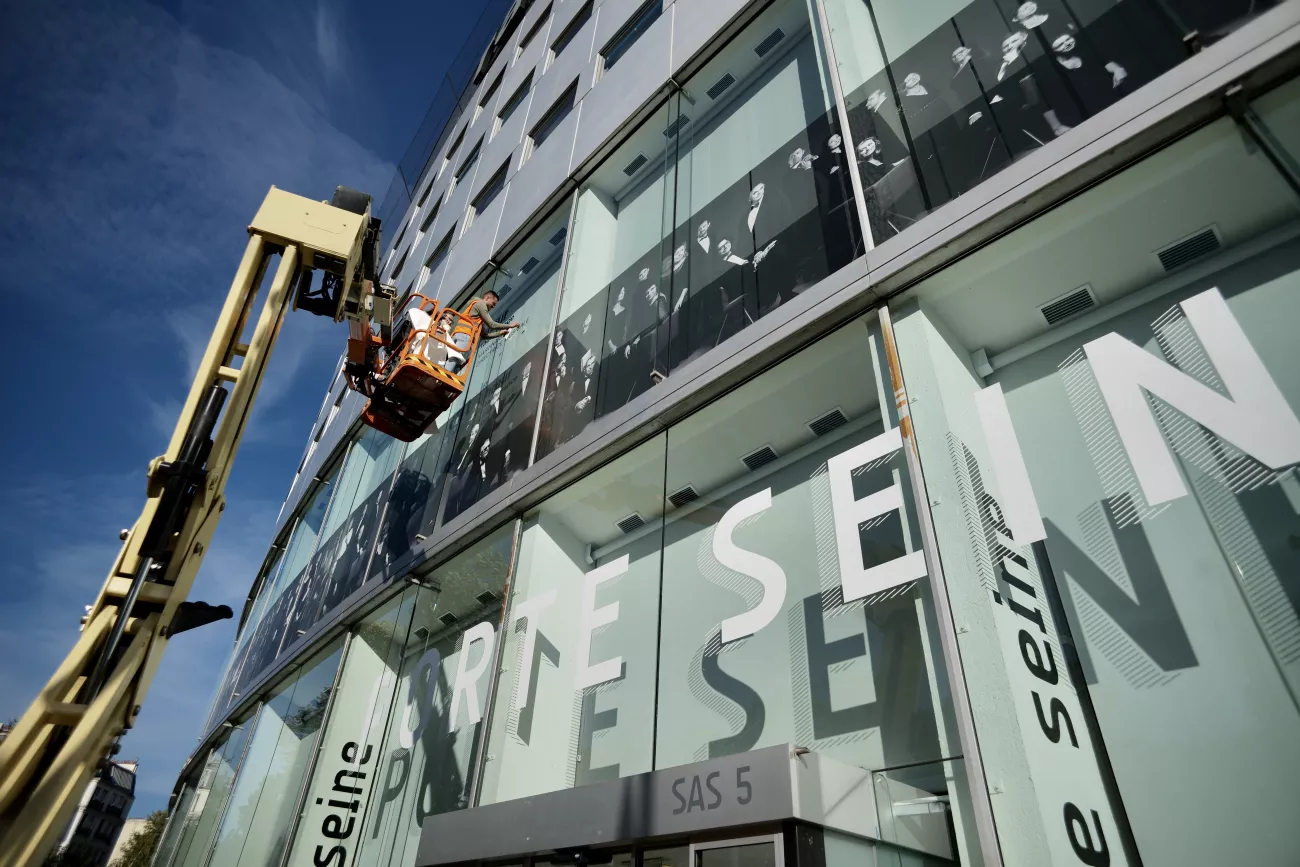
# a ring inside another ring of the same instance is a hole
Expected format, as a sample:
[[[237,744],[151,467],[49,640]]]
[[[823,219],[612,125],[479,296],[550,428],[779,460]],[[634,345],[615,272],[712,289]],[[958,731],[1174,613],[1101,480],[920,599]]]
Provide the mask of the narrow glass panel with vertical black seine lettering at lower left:
[[[363,844],[358,825],[384,785],[382,738],[417,593],[426,591],[410,588],[368,616],[352,634],[290,864],[337,862],[333,867],[344,867]]]

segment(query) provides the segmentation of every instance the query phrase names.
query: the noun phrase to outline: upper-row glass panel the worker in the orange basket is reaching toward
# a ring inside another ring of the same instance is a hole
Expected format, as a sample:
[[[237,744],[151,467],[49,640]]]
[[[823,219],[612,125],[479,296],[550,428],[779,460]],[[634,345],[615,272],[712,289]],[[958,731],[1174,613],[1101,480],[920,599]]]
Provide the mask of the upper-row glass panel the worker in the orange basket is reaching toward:
[[[567,221],[566,203],[484,287],[499,298],[493,318],[519,322],[519,328],[481,342],[474,354],[459,435],[448,460],[443,521],[462,515],[528,467]]]

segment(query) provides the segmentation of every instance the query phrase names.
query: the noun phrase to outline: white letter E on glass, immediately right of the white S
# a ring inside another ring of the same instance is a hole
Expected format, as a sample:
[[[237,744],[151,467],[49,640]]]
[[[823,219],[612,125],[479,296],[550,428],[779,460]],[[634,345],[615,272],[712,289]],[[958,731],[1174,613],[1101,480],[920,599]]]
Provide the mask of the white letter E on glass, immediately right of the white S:
[[[845,602],[926,577],[926,555],[922,551],[904,554],[872,567],[862,565],[858,526],[872,517],[902,511],[902,486],[894,481],[884,490],[854,499],[853,471],[900,448],[902,434],[893,428],[826,461],[827,476],[831,478],[835,542],[840,554],[840,586],[844,588]]]

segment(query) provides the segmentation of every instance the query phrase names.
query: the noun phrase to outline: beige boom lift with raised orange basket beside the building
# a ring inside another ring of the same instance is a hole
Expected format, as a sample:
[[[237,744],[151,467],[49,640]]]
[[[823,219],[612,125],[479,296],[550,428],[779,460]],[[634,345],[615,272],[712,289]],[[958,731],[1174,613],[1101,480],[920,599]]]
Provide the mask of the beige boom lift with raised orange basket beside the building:
[[[378,430],[410,442],[464,390],[476,322],[416,295],[394,335],[396,292],[376,281],[380,229],[370,196],[355,190],[339,187],[329,204],[266,194],[172,439],[150,463],[144,510],[122,530],[81,637],[0,744],[0,867],[34,867],[51,853],[92,773],[135,723],[168,640],[231,616],[228,606],[186,597],[225,510],[285,313],[348,320],[348,383],[369,398],[363,420]],[[273,256],[274,277],[244,338]]]

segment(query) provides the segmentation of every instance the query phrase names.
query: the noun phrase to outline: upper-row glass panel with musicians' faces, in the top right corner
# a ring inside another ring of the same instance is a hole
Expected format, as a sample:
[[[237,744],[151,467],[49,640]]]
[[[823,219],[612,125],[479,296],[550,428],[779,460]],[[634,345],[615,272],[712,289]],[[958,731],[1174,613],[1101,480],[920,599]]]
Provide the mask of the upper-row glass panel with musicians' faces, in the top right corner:
[[[826,0],[876,243],[1273,0]]]

